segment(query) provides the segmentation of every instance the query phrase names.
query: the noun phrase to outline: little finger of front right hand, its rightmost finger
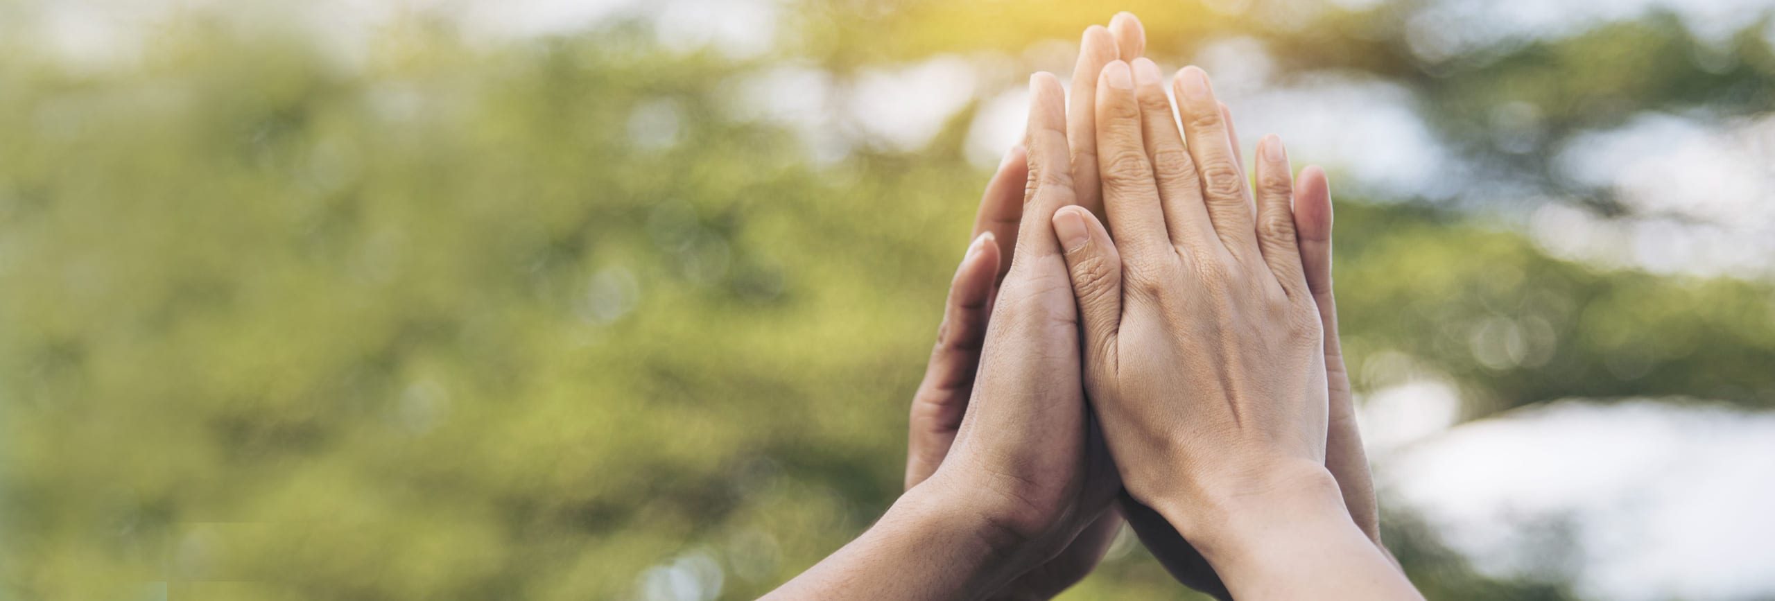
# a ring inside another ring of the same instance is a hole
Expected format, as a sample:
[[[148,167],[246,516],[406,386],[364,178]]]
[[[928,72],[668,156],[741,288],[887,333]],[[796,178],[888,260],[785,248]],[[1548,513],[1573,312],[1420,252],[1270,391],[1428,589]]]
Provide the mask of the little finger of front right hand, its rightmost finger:
[[[1257,243],[1264,264],[1289,298],[1305,298],[1306,275],[1294,236],[1294,172],[1282,138],[1269,135],[1257,142]]]

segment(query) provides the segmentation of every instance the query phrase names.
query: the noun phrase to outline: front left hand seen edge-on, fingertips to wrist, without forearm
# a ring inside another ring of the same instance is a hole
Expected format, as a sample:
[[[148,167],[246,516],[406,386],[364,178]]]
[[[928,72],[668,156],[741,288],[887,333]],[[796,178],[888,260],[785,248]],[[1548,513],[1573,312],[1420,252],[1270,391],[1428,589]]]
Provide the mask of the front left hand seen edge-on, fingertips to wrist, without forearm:
[[[985,496],[1006,539],[1047,562],[1115,498],[1115,468],[1093,436],[1077,356],[1077,314],[1047,225],[1074,190],[1065,96],[1030,80],[1028,176],[1010,269],[992,303],[973,397],[955,443],[918,488]],[[996,238],[996,236],[994,236]],[[914,488],[914,489],[918,489]]]

